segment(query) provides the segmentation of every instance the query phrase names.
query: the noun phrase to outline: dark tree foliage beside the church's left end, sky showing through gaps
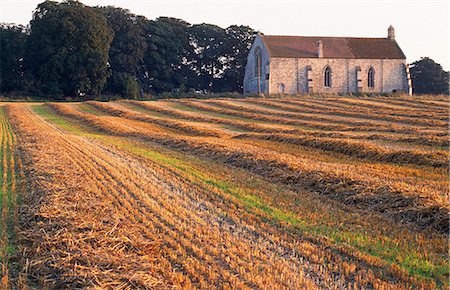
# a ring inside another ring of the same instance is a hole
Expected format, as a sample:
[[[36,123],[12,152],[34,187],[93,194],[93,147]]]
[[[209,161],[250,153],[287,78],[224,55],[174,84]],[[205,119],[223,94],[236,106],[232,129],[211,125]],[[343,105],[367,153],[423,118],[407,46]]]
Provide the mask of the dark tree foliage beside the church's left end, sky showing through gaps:
[[[247,53],[256,32],[247,26],[190,25],[175,18],[148,24],[146,71],[149,93],[242,91]]]

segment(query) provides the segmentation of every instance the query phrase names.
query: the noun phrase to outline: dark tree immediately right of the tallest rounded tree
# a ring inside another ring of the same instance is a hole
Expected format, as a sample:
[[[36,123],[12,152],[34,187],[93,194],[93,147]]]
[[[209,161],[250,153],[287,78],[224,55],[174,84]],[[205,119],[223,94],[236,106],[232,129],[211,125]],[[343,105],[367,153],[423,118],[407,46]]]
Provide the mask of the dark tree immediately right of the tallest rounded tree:
[[[145,27],[148,20],[143,16],[130,13],[127,9],[112,6],[98,9],[106,17],[113,31],[108,59],[111,76],[108,78],[105,90],[127,98],[137,98],[139,96],[138,78],[147,48]]]

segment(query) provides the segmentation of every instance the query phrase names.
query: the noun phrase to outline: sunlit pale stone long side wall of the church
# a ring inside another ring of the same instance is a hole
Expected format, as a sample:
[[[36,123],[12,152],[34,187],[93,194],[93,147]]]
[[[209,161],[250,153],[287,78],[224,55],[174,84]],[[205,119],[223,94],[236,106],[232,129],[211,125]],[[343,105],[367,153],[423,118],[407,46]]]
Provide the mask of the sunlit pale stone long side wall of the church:
[[[331,68],[331,87],[324,86],[325,67]],[[327,59],[272,58],[269,93],[311,93],[308,90],[308,67],[311,68],[313,93],[392,93],[408,92],[405,60],[401,59]],[[361,70],[358,89],[357,67]],[[374,87],[368,86],[368,71],[373,67]],[[284,90],[282,90],[284,88]]]

